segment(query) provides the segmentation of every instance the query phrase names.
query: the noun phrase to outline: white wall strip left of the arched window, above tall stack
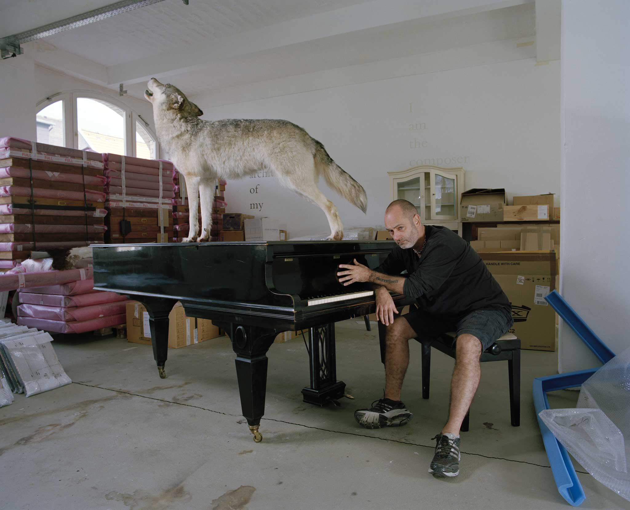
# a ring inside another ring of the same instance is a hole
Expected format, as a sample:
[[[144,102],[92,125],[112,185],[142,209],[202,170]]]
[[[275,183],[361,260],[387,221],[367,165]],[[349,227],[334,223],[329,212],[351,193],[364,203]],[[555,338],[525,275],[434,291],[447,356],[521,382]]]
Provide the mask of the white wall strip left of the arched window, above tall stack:
[[[35,61],[33,45],[24,54],[0,60],[0,138],[35,139]]]

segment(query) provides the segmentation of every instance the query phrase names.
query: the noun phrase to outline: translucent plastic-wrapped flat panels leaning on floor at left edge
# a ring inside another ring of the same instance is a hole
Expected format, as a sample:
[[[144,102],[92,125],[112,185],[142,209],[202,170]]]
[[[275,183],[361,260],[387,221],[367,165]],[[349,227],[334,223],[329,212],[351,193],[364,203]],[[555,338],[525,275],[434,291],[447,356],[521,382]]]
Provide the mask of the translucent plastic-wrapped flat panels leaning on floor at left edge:
[[[50,334],[42,331],[13,324],[0,327],[0,358],[14,392],[30,397],[72,382],[50,342]]]

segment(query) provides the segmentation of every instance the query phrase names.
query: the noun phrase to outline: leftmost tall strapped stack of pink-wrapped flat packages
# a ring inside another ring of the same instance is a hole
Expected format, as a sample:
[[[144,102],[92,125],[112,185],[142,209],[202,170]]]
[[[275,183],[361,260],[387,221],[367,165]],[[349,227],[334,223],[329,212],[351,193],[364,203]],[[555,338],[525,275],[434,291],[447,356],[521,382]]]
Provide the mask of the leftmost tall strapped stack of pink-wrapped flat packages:
[[[102,244],[101,154],[0,138],[0,272],[31,251]]]

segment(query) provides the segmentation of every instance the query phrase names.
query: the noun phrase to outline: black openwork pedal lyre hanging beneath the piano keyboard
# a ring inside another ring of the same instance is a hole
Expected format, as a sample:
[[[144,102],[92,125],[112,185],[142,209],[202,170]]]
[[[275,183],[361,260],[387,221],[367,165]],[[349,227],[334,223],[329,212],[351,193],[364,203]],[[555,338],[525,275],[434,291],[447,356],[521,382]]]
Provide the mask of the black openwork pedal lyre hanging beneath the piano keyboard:
[[[332,402],[338,406],[337,399],[354,398],[345,395],[346,383],[337,380],[334,322],[309,330],[309,362],[311,387],[302,389],[304,402],[315,405]]]

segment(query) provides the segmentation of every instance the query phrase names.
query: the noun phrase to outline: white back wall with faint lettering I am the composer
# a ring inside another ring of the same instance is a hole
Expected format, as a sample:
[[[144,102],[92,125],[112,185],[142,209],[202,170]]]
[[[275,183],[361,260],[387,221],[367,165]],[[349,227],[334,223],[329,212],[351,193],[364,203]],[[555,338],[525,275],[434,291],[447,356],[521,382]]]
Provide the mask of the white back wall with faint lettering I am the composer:
[[[419,159],[463,166],[466,188],[506,188],[510,199],[551,192],[559,205],[558,62],[515,60],[215,107],[207,106],[212,91],[194,99],[207,120],[284,118],[322,142],[367,191],[365,217],[320,183],[345,227],[382,225],[391,201],[387,171]],[[426,128],[412,131],[411,123]],[[425,147],[410,147],[414,139]],[[256,184],[258,193],[250,193]],[[291,237],[328,229],[316,206],[278,190],[275,178],[229,181],[226,200],[229,212],[262,203],[261,215],[285,218]]]

